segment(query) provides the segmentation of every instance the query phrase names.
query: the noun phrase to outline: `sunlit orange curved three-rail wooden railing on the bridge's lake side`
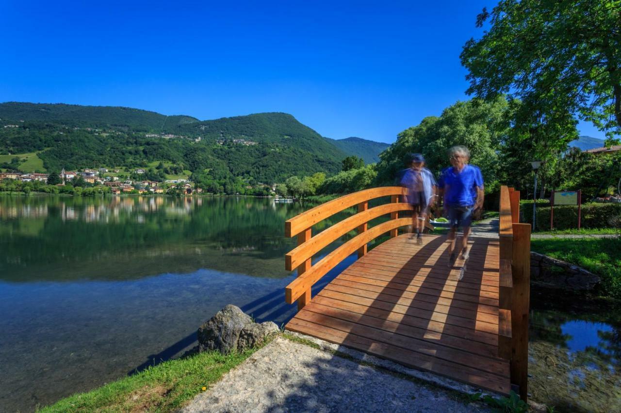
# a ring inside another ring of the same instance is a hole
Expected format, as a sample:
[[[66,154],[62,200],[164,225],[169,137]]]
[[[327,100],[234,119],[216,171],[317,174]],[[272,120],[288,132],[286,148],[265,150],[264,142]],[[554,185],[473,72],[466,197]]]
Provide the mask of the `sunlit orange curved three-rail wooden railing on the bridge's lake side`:
[[[318,205],[286,221],[284,224],[286,236],[297,235],[297,247],[285,255],[285,269],[291,271],[297,268],[297,278],[285,288],[286,302],[292,304],[297,301],[297,308],[303,308],[311,301],[311,287],[343,259],[356,251],[358,257],[365,255],[368,242],[388,232],[391,238],[396,237],[399,227],[411,224],[411,218],[399,218],[399,211],[412,210],[411,205],[400,202],[403,195],[407,195],[407,189],[403,187],[365,189]],[[369,209],[369,201],[381,197],[391,197],[391,203]],[[355,215],[312,236],[312,226],[354,206],[358,207]],[[388,214],[391,218],[389,221],[368,228],[369,221]],[[313,255],[354,229],[358,229],[358,234],[354,238],[318,262],[311,262]]]

